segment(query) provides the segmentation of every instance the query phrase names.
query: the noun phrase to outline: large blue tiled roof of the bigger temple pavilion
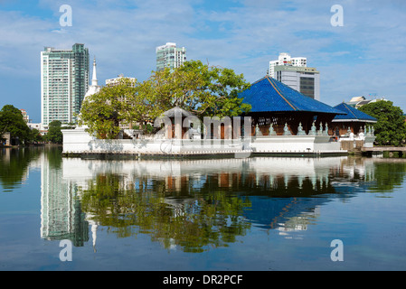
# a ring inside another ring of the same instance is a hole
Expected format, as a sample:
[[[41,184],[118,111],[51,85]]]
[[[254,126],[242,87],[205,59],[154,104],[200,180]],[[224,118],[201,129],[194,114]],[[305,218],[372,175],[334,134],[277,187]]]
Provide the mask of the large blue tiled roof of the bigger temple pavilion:
[[[250,112],[302,111],[340,115],[341,110],[309,98],[269,76],[254,82],[241,92],[243,103],[251,105]]]

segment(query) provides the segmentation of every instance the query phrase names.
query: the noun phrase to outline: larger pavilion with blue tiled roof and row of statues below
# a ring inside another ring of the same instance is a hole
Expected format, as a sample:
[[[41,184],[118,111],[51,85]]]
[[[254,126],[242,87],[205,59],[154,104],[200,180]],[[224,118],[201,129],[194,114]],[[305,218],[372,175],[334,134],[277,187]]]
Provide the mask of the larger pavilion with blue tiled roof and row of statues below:
[[[240,97],[251,105],[246,117],[252,117],[253,132],[260,129],[262,135],[314,135],[322,131],[326,135],[333,119],[345,115],[269,76],[254,82]]]

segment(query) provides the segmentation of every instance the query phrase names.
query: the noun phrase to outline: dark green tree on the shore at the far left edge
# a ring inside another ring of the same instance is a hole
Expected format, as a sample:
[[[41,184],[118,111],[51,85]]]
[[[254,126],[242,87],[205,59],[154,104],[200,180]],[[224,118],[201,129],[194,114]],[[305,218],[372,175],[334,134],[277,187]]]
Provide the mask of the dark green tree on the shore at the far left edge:
[[[24,122],[20,109],[12,105],[5,105],[0,110],[0,135],[7,132],[22,143],[29,140],[30,128]]]

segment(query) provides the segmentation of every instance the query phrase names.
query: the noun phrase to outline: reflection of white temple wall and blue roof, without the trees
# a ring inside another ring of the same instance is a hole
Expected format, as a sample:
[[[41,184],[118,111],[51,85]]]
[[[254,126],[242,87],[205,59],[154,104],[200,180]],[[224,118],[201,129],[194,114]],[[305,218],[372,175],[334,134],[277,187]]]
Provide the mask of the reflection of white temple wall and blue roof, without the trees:
[[[206,196],[210,198],[212,193],[220,193],[242,200],[240,218],[259,228],[279,229],[283,234],[307,229],[317,218],[320,206],[334,198],[348,197],[345,188],[353,186],[354,172],[364,178],[373,173],[372,168],[373,163],[367,160],[348,163],[346,157],[166,161],[68,158],[62,162],[64,182],[76,183],[81,191],[88,190],[89,181],[95,182],[109,174],[119,176],[120,190],[129,193],[154,195],[159,184],[165,198],[148,200],[165,203],[174,219],[193,218],[202,213],[202,200]],[[333,185],[335,177],[341,183],[338,190]],[[313,198],[315,195],[320,197]],[[92,218],[88,216],[88,219]],[[96,231],[93,237],[96,238]],[[169,239],[174,247],[175,239]]]

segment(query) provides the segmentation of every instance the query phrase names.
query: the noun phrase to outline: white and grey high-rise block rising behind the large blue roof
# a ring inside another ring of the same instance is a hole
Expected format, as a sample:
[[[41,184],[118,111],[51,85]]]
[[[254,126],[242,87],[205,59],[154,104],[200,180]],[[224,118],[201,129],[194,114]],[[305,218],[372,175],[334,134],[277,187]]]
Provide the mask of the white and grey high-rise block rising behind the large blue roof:
[[[320,72],[307,67],[305,57],[293,58],[288,53],[280,53],[278,61],[269,61],[268,74],[291,89],[320,100]]]

